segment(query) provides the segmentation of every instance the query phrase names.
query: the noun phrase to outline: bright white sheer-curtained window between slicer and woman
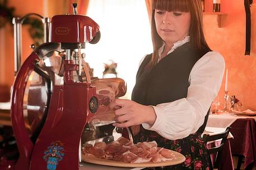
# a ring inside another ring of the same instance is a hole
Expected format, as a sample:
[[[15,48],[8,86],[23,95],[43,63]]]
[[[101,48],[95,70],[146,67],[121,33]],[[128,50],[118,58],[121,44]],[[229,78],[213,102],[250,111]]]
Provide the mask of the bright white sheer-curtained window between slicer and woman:
[[[117,62],[118,77],[127,82],[125,99],[131,99],[139,62],[152,53],[151,28],[145,0],[90,1],[87,16],[100,26],[101,40],[86,44],[86,62],[94,76],[102,77],[104,63]]]

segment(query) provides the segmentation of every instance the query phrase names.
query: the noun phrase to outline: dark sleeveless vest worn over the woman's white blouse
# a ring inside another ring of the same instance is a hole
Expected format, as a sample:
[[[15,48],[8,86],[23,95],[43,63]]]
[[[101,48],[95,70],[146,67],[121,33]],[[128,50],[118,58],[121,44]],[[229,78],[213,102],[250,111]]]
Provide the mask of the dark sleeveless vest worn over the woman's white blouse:
[[[132,100],[139,104],[156,106],[160,103],[187,98],[190,71],[194,64],[209,51],[208,48],[198,50],[187,42],[160,60],[150,71],[146,71],[145,66],[151,60],[152,54],[147,55],[139,66]],[[209,111],[197,132],[203,132],[208,114]]]

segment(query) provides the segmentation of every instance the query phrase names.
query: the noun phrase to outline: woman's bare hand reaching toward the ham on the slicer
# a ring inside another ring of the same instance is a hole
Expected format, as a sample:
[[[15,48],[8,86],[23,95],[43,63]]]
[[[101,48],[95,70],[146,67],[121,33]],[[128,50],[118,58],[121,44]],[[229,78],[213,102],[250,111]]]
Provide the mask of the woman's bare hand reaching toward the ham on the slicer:
[[[115,99],[109,104],[114,109],[115,122],[113,125],[118,128],[131,127],[147,123],[153,125],[156,121],[156,113],[153,107],[138,104],[132,100]]]

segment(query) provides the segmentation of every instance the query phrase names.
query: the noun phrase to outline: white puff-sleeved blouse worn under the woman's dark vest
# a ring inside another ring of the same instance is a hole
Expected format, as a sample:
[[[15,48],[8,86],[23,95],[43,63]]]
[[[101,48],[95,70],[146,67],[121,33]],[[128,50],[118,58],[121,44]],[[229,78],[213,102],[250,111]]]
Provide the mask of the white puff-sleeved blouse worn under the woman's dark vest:
[[[176,42],[168,54],[188,42],[189,37],[184,40]],[[160,48],[160,54],[163,49]],[[224,71],[225,61],[222,55],[215,51],[207,52],[190,72],[187,98],[152,106],[156,113],[156,121],[152,127],[142,123],[143,128],[156,131],[162,137],[171,140],[182,139],[196,133],[203,125],[204,116],[218,94]]]

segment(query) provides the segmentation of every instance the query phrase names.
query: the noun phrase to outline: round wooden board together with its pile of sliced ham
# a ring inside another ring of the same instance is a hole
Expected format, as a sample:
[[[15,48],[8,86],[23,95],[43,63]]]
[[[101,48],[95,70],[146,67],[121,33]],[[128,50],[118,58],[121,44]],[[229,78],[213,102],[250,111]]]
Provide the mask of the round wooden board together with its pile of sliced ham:
[[[173,150],[157,147],[155,141],[133,144],[120,137],[109,144],[85,145],[82,161],[115,167],[160,167],[182,163],[185,157]]]

